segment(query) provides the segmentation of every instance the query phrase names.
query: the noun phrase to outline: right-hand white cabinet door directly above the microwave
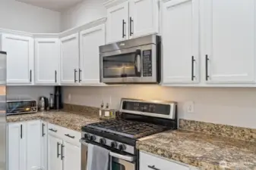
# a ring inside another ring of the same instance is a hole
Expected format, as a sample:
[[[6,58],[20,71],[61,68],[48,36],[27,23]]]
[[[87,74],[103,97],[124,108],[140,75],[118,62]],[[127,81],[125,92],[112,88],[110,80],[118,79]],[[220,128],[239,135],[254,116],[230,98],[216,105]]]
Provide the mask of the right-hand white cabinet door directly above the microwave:
[[[130,0],[130,39],[159,32],[159,1]]]

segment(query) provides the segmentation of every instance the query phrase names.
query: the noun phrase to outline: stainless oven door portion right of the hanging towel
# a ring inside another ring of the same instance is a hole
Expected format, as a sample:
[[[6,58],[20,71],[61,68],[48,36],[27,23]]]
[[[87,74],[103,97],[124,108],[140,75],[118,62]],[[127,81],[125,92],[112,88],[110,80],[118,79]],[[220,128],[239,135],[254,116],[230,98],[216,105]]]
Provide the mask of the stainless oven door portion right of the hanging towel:
[[[135,170],[134,156],[109,153],[109,170]]]

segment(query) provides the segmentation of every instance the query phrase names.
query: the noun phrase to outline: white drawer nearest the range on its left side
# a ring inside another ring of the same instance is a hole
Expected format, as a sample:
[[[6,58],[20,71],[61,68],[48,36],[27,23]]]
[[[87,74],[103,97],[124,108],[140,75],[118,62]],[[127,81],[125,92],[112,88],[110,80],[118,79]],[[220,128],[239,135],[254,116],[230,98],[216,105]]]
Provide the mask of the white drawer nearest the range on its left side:
[[[75,144],[78,147],[80,146],[79,140],[81,139],[81,132],[73,131],[68,128],[62,128],[62,139],[63,141],[67,141],[71,144]]]

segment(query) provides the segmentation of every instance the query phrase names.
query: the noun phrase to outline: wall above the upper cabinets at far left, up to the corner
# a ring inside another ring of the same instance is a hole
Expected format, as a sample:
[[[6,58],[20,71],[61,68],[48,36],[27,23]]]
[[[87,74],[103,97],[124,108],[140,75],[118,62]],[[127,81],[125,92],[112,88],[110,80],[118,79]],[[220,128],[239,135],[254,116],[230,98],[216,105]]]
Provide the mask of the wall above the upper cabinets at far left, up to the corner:
[[[61,14],[15,0],[0,0],[0,28],[31,33],[60,32]]]

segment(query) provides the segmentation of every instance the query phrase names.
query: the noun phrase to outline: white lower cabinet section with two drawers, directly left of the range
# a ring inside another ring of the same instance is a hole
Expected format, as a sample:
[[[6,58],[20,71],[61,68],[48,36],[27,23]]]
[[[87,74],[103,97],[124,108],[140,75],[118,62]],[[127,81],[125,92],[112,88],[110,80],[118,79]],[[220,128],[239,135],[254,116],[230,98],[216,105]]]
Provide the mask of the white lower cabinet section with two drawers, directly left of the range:
[[[48,170],[81,170],[80,132],[52,124],[48,129]]]

